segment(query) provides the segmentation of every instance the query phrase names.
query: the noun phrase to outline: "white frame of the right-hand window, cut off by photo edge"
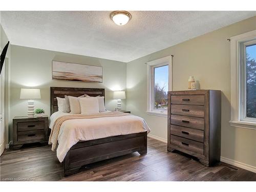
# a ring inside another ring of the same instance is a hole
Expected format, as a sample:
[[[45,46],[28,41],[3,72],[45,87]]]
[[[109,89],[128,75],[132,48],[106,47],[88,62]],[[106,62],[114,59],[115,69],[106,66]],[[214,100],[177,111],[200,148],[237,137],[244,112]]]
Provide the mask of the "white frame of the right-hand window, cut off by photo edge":
[[[245,46],[254,44],[256,30],[230,38],[230,125],[256,129],[256,118],[246,117],[246,58]]]

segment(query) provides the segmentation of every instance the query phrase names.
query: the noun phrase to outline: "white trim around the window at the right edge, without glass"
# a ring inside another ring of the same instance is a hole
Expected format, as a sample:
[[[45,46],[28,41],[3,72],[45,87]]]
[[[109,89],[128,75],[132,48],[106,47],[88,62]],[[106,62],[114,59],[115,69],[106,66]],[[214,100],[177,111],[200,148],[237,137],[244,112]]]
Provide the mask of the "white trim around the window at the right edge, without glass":
[[[256,30],[243,33],[230,38],[230,86],[231,86],[231,116],[230,125],[244,129],[256,129],[256,122],[246,121],[241,118],[241,55],[240,44],[256,37]]]

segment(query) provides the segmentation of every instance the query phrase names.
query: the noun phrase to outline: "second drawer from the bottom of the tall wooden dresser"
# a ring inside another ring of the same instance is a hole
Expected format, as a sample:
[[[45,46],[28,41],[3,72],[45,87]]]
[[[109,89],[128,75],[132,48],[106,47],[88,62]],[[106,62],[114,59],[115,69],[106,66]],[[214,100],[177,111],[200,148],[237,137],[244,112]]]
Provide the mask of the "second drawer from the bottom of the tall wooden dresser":
[[[204,131],[190,129],[183,126],[170,125],[170,133],[176,136],[192,139],[199,142],[204,142]]]

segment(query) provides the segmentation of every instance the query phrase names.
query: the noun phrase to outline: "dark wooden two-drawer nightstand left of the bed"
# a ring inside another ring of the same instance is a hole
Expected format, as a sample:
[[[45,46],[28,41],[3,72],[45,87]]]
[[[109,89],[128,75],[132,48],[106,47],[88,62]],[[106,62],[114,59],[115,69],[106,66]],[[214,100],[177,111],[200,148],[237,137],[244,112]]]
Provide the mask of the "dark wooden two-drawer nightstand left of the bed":
[[[12,124],[14,149],[26,143],[48,141],[48,116],[14,117]]]

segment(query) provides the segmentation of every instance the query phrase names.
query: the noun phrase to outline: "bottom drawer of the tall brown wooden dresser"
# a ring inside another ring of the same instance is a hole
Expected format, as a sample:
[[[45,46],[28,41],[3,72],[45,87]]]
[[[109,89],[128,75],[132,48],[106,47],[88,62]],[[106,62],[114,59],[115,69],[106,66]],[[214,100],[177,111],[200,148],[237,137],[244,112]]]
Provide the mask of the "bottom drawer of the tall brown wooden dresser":
[[[193,141],[190,139],[178,137],[175,135],[170,135],[170,143],[173,145],[177,145],[179,147],[185,148],[186,150],[193,151],[196,153],[199,153],[201,155],[204,155],[204,144]]]

